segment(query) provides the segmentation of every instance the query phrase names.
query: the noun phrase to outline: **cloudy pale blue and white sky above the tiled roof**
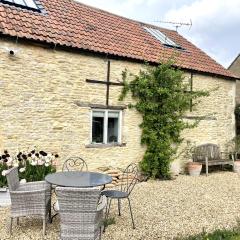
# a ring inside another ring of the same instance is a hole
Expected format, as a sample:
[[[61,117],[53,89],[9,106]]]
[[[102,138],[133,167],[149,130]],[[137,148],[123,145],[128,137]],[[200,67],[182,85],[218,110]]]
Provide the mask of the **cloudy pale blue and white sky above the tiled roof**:
[[[224,67],[240,53],[240,0],[78,0],[138,21],[176,29]]]

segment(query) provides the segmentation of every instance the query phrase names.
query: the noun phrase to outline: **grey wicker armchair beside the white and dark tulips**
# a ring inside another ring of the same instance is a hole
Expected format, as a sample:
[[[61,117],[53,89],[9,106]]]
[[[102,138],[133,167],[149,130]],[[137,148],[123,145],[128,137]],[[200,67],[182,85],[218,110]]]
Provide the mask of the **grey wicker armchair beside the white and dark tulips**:
[[[12,234],[13,219],[31,215],[43,219],[43,235],[46,234],[47,215],[51,215],[50,194],[51,187],[45,181],[21,184],[18,177],[18,168],[8,170],[7,182],[11,197],[10,234]]]

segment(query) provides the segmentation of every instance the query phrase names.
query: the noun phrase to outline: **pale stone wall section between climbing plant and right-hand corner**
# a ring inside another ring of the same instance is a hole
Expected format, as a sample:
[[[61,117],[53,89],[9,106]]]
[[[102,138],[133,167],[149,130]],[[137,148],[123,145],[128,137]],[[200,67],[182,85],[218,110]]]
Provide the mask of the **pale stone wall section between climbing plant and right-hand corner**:
[[[190,76],[186,74],[186,78]],[[186,114],[186,121],[193,123],[197,120],[199,123],[198,127],[183,132],[185,141],[180,149],[186,149],[187,142],[191,143],[190,146],[215,143],[222,151],[227,151],[227,143],[235,137],[235,81],[194,74],[194,90],[207,90],[210,96],[200,99],[193,112]],[[181,156],[178,160],[183,165],[189,159]]]

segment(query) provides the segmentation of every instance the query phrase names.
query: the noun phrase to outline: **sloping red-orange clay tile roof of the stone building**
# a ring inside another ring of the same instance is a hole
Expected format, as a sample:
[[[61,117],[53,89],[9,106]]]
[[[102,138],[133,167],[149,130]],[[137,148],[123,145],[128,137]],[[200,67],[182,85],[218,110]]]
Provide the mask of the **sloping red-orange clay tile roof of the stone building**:
[[[184,69],[235,76],[179,33],[130,20],[73,0],[38,0],[44,13],[0,3],[0,33],[98,53],[158,63],[177,52]],[[161,44],[143,26],[159,29],[185,50]]]

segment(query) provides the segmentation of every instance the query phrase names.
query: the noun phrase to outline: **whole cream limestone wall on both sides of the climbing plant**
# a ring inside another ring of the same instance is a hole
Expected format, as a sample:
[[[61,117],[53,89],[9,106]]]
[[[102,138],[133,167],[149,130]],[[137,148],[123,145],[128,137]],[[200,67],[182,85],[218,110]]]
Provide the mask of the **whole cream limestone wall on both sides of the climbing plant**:
[[[9,56],[5,48],[19,48]],[[122,80],[127,68],[137,73],[143,65],[111,60],[111,81]],[[123,111],[122,147],[87,148],[90,144],[91,108],[106,102],[106,86],[85,80],[106,80],[107,61],[92,55],[50,50],[41,46],[0,40],[0,151],[16,151],[39,146],[58,152],[61,161],[82,156],[90,169],[100,166],[124,167],[138,162],[144,154],[140,145],[141,116],[134,110]],[[188,74],[186,74],[189,77]],[[215,142],[224,146],[234,136],[235,83],[203,75],[194,75],[194,87],[219,87],[198,108],[196,115],[214,116],[184,135],[197,143]],[[110,87],[110,105],[119,102],[121,87]],[[83,104],[84,103],[84,104]],[[189,113],[192,115],[192,113]]]

